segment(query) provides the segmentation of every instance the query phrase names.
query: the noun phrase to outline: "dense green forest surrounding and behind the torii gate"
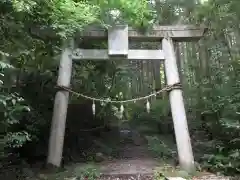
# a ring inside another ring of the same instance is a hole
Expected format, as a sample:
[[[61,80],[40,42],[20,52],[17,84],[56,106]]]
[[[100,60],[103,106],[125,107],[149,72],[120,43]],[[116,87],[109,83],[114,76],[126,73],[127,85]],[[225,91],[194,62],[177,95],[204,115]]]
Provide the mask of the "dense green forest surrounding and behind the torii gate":
[[[94,112],[92,100],[76,95],[125,100],[164,89],[164,63],[151,60],[73,64],[76,93],[69,95],[62,165],[46,166],[64,42],[91,26],[115,24],[139,32],[156,25],[207,28],[198,41],[174,42],[194,160],[198,172],[240,179],[239,9],[239,0],[1,0],[0,179],[65,179],[74,166],[74,176],[94,180],[101,163],[137,158],[141,164],[148,155],[164,162],[159,171],[165,163],[177,168],[167,92],[151,97],[147,108],[141,100],[124,110],[100,101]],[[78,42],[84,49],[107,48],[105,41]],[[130,42],[129,48],[159,45]]]

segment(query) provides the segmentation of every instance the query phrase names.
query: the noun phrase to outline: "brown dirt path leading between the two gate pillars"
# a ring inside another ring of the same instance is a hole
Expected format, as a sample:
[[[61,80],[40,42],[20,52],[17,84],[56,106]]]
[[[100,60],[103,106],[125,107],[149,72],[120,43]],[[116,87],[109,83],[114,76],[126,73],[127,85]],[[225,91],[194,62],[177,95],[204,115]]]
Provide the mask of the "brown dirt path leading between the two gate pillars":
[[[137,132],[123,135],[119,159],[100,164],[100,171],[113,174],[152,174],[159,162],[148,152],[146,140]]]

